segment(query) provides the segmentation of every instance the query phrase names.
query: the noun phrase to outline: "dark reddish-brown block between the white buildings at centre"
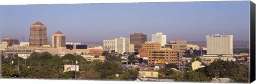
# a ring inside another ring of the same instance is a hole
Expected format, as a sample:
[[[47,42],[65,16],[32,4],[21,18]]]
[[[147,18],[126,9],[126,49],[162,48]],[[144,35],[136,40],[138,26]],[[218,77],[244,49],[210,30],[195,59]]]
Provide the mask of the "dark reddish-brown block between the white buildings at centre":
[[[147,41],[147,35],[143,33],[134,33],[130,35],[130,44],[134,44],[134,49],[141,49],[142,44]]]

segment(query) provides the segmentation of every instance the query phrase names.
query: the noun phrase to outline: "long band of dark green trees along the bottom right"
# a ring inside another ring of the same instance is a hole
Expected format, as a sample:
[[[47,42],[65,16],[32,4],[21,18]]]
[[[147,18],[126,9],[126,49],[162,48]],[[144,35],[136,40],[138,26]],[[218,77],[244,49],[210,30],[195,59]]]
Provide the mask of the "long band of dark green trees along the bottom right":
[[[210,82],[212,78],[230,78],[230,82],[249,82],[249,68],[236,62],[217,60],[205,68],[176,71],[178,66],[167,64],[159,70],[159,79],[174,79],[174,81]]]

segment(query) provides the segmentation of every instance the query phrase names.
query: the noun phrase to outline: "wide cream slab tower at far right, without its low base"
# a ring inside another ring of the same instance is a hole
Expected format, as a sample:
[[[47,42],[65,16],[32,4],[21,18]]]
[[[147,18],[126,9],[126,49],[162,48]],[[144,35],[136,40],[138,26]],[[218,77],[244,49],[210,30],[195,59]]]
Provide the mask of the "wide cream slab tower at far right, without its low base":
[[[207,55],[233,55],[233,35],[207,35]]]

